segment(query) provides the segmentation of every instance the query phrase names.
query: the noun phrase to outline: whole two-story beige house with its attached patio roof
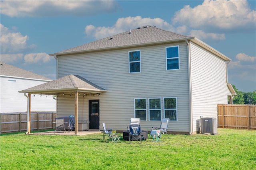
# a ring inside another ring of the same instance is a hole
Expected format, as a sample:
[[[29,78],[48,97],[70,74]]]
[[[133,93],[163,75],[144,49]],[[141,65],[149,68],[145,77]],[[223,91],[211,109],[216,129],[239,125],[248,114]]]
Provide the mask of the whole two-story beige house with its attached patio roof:
[[[143,130],[170,118],[168,132],[199,131],[200,117],[217,117],[217,104],[232,100],[230,59],[206,43],[143,26],[51,54],[58,79],[21,92],[57,95],[57,115],[126,130],[131,117]],[[75,125],[75,126],[76,126]],[[77,128],[75,128],[77,133]]]

